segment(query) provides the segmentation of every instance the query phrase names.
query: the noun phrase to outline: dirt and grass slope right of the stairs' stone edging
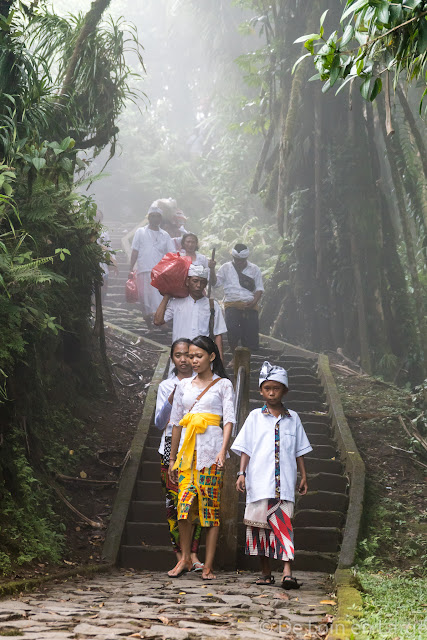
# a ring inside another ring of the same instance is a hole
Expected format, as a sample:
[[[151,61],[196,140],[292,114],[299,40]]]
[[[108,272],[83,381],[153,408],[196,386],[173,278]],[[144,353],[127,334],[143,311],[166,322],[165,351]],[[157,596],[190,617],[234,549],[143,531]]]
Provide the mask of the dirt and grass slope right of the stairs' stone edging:
[[[419,443],[409,438],[399,421],[399,416],[406,424],[414,420],[426,435],[424,387],[410,394],[367,376],[339,376],[337,382],[366,466],[355,566],[364,607],[362,618],[354,625],[354,637],[425,640],[425,469],[416,460],[426,460]]]

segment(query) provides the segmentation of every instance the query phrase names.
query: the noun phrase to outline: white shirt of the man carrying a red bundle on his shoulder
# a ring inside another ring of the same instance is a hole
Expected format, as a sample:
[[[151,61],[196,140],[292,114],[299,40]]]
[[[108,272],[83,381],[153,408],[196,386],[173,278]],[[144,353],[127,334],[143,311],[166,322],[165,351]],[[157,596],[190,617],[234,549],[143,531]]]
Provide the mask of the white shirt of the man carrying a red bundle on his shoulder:
[[[214,301],[214,335],[227,332],[224,316],[218,302]],[[189,338],[192,340],[196,336],[209,335],[209,319],[211,308],[209,298],[203,296],[199,300],[194,300],[191,296],[186,298],[171,298],[165,311],[165,322],[173,320],[172,342],[178,338]]]

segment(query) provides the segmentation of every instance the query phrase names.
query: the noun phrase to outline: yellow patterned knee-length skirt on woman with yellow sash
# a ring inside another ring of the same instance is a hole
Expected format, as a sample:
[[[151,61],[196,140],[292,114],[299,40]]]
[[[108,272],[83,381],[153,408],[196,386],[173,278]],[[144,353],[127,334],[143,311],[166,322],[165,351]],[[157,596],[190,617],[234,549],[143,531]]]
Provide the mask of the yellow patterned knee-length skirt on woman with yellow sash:
[[[193,465],[186,471],[178,471],[178,520],[192,517],[192,506],[198,500],[198,519],[202,527],[219,527],[223,470],[216,464],[196,469],[196,452]]]

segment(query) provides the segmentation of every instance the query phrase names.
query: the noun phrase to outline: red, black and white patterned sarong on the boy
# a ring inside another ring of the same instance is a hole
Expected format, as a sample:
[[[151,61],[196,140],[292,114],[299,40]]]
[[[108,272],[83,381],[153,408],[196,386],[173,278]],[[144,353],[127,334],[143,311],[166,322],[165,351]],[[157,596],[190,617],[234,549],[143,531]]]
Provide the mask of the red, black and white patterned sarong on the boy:
[[[293,502],[275,498],[268,500],[266,526],[249,525],[246,522],[246,555],[293,560],[293,511]]]

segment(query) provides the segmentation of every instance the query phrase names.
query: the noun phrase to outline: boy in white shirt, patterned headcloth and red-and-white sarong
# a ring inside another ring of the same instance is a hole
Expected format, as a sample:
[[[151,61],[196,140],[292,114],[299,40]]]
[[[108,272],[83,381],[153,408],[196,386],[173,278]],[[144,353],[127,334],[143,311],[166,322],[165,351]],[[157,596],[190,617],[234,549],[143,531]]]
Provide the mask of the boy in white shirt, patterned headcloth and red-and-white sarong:
[[[282,587],[299,589],[292,576],[294,511],[298,491],[307,493],[304,455],[312,451],[301,420],[282,404],[288,392],[288,374],[265,361],[259,376],[265,405],[250,412],[231,450],[240,455],[236,489],[246,489],[246,554],[258,555],[262,576],[257,584],[274,584],[269,558],[283,560]]]

